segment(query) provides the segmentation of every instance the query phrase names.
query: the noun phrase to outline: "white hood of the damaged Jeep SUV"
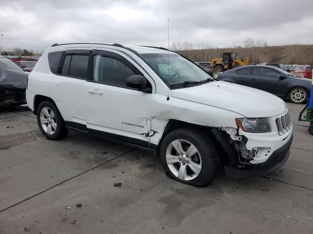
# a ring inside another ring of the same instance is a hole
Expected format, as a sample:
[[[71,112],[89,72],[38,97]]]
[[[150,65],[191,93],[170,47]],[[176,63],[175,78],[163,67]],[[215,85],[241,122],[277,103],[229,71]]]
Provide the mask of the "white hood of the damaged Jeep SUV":
[[[175,98],[215,106],[245,117],[273,117],[282,114],[287,108],[281,98],[268,92],[224,81],[175,89],[171,92]]]

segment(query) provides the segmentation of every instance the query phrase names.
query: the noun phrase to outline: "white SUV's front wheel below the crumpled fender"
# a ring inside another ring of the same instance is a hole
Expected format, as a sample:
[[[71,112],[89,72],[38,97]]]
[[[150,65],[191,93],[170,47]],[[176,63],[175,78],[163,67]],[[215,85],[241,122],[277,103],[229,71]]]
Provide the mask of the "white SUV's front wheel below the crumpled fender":
[[[195,186],[210,184],[218,168],[212,141],[201,131],[189,128],[176,129],[164,137],[160,160],[167,175]]]

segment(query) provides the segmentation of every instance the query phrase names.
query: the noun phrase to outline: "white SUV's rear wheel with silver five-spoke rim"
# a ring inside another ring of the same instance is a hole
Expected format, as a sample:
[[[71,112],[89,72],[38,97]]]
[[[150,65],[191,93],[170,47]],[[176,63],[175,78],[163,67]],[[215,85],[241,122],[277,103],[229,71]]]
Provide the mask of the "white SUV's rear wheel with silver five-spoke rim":
[[[40,131],[49,140],[59,140],[67,135],[65,122],[58,108],[51,101],[43,101],[37,109],[37,123]]]

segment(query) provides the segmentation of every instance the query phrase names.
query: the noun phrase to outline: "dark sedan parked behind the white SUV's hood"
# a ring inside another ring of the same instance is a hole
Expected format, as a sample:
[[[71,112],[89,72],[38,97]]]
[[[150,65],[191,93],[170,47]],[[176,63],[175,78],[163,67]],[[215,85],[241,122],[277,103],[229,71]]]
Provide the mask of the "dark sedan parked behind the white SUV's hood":
[[[311,80],[298,78],[277,67],[243,66],[217,74],[218,79],[272,93],[293,103],[307,101]]]

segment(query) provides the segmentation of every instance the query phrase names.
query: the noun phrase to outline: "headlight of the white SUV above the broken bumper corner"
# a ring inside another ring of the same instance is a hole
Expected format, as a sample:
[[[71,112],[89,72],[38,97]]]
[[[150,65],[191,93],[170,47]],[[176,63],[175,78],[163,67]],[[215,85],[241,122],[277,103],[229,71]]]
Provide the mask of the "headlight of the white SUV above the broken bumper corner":
[[[272,131],[268,118],[236,118],[236,123],[247,133],[270,133]]]

